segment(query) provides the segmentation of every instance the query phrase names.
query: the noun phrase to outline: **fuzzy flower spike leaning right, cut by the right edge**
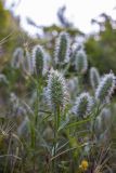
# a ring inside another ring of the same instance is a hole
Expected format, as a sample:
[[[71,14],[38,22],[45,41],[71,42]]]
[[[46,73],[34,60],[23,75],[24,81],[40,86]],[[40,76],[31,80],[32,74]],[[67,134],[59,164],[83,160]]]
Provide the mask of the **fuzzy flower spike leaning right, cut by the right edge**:
[[[107,74],[105,75],[96,91],[95,91],[95,98],[99,99],[101,103],[108,103],[109,98],[116,88],[116,81],[115,81],[116,77],[114,76],[114,74]]]

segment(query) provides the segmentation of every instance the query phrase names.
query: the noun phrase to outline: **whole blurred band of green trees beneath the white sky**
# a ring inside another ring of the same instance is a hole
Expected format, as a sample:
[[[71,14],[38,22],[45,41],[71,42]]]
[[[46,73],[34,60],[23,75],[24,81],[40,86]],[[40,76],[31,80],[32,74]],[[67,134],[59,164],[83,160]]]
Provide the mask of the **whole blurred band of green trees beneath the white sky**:
[[[65,23],[70,23],[64,16],[64,11],[61,13],[61,10],[62,9],[57,12],[57,14],[60,13],[59,19],[62,18],[62,21],[60,19],[61,26],[56,26],[55,24],[51,26],[38,26],[30,18],[27,21],[29,25],[43,31],[44,37],[40,39],[38,35],[36,42],[43,44],[50,52],[54,44],[55,37],[63,30],[67,31],[72,37],[82,36],[86,38],[86,35],[78,28],[75,28],[73,24],[65,26]],[[116,72],[116,22],[104,13],[101,14],[100,18],[102,18],[102,22],[92,21],[99,25],[100,31],[90,35],[89,38],[86,39],[86,51],[90,65],[98,67],[101,74],[108,72],[111,69]],[[23,45],[23,37],[21,37],[23,35],[25,35],[25,40],[28,40],[28,42],[35,42],[34,39],[29,38],[21,28],[20,18],[14,17],[10,11],[5,10],[3,2],[0,1],[0,69],[2,69],[5,62],[11,58],[10,55],[14,49]]]

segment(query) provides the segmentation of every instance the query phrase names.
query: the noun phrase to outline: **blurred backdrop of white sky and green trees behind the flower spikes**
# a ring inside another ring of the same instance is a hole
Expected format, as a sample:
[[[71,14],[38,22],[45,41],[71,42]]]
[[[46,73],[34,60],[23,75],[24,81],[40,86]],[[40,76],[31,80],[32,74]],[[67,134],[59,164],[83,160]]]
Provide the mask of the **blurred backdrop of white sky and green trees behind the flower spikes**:
[[[66,28],[85,42],[90,64],[101,72],[116,72],[115,17],[115,0],[1,0],[0,63],[5,64],[9,52],[28,39],[42,38],[44,44],[51,34]]]

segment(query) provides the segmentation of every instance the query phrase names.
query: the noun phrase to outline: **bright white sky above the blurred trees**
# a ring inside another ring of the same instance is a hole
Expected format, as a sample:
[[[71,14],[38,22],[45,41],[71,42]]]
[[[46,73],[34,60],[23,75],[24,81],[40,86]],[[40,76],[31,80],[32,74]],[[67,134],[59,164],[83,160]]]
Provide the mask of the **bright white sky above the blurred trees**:
[[[8,5],[12,1],[8,0]],[[96,26],[91,25],[91,19],[96,18],[101,13],[116,18],[116,10],[113,10],[116,0],[22,0],[14,13],[21,16],[22,26],[33,34],[37,30],[28,27],[26,17],[30,17],[37,25],[59,24],[56,12],[64,4],[68,19],[86,34],[98,29]]]

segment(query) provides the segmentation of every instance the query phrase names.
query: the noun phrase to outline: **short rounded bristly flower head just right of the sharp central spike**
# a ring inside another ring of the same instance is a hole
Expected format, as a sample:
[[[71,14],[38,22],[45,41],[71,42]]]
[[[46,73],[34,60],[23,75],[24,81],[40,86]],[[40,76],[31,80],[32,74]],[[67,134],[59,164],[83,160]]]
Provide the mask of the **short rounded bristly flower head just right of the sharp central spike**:
[[[93,105],[93,99],[89,93],[81,93],[75,102],[75,106],[73,107],[73,112],[80,118],[87,118],[91,112],[91,108]]]

